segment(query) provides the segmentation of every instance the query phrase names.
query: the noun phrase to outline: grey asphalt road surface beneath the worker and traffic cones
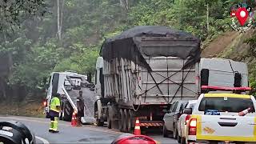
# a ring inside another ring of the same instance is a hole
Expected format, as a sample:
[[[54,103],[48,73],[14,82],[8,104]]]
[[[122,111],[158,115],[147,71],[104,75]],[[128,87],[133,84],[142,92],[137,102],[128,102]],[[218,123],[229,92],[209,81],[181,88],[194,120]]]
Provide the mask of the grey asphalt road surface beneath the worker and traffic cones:
[[[34,131],[38,143],[111,143],[121,132],[118,130],[109,130],[106,127],[97,127],[84,125],[82,127],[70,126],[70,122],[59,122],[58,134],[48,132],[49,119],[46,118],[28,118],[16,116],[2,116],[0,121],[18,121],[24,123],[30,130]],[[147,135],[160,143],[177,144],[177,141],[171,138],[162,138],[160,132],[149,131]]]

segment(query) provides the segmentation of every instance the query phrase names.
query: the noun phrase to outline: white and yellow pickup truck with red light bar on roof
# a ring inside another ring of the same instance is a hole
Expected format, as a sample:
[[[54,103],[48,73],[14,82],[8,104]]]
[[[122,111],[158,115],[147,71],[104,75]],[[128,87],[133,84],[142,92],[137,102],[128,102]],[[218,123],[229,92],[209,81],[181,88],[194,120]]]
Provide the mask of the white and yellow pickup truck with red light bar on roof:
[[[255,105],[254,96],[247,94],[201,94],[193,111],[183,110],[191,114],[186,143],[256,142]]]

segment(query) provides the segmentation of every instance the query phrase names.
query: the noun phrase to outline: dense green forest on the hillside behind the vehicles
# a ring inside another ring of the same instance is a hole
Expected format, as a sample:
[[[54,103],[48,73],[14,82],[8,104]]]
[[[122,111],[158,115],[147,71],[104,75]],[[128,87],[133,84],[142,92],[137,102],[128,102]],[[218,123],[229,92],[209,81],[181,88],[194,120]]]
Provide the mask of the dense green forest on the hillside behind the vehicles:
[[[43,83],[52,71],[93,74],[104,39],[133,26],[185,30],[202,39],[203,49],[231,30],[230,7],[238,2],[1,0],[0,98],[42,98]],[[254,6],[254,1],[247,3]],[[247,42],[255,46],[256,37]]]

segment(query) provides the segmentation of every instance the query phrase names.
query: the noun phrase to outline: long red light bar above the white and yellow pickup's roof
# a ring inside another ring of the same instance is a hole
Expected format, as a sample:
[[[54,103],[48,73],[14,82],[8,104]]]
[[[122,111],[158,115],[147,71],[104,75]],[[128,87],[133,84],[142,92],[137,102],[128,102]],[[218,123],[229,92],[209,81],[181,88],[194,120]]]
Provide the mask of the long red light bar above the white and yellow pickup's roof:
[[[207,91],[222,90],[222,91],[239,91],[239,92],[252,90],[251,87],[227,87],[227,86],[201,86],[201,89],[207,90]]]

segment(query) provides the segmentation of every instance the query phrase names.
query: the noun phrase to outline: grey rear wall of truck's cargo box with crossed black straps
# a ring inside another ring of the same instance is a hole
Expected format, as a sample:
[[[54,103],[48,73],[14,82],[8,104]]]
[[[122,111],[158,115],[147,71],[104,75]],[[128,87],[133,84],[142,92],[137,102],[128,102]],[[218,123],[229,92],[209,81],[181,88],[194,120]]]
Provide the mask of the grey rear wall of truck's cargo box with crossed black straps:
[[[168,104],[196,99],[200,93],[198,63],[182,69],[186,60],[174,57],[146,58],[152,71],[142,69],[135,105]]]

